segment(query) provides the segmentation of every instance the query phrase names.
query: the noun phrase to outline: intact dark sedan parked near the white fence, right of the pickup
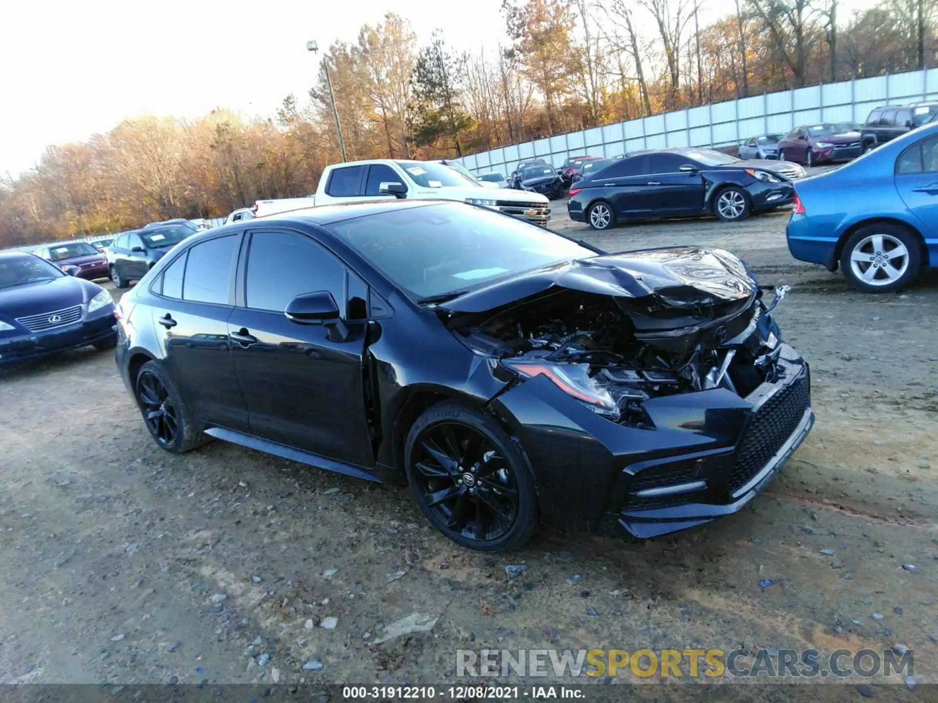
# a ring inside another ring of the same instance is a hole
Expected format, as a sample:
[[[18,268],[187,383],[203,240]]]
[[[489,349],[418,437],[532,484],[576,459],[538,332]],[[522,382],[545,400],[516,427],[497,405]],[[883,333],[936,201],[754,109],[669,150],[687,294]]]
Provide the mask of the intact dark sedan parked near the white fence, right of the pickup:
[[[787,161],[744,160],[714,149],[636,152],[573,184],[567,213],[594,230],[659,217],[735,222],[790,205],[792,182],[804,173]]]

